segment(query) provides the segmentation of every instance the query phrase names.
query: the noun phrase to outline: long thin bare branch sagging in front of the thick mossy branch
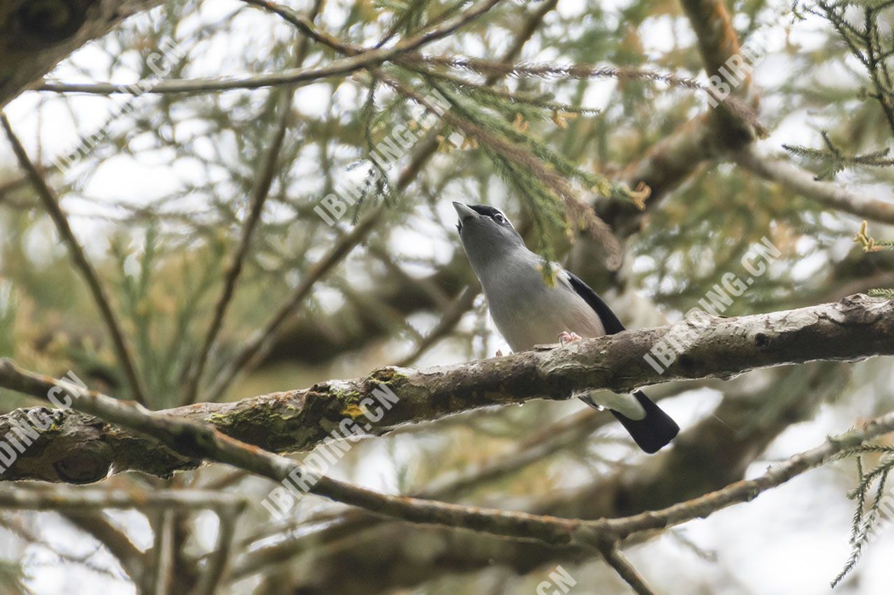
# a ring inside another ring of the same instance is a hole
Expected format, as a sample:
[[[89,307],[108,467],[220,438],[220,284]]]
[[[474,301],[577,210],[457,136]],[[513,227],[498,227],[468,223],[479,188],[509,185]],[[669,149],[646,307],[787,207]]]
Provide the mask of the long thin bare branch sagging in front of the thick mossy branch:
[[[891,304],[888,303],[888,306]],[[845,454],[866,440],[894,432],[894,413],[883,415],[864,424],[860,429],[832,437],[817,448],[789,458],[754,480],[736,482],[723,490],[655,512],[618,519],[581,521],[375,493],[308,473],[288,458],[223,436],[208,424],[150,412],[145,407],[122,403],[93,390],[80,390],[67,381],[54,381],[38,374],[26,373],[8,360],[0,362],[0,380],[13,390],[38,397],[56,387],[79,391],[74,405],[80,410],[102,415],[110,422],[131,431],[153,436],[181,456],[204,457],[274,481],[283,481],[287,477],[297,478],[298,481],[312,480],[308,487],[309,493],[362,507],[377,515],[391,516],[414,524],[435,524],[483,532],[519,541],[540,541],[553,546],[580,545],[592,549],[604,549],[606,543],[619,542],[639,532],[666,529],[695,518],[704,518],[721,508],[750,501],[763,491],[788,482],[796,475],[822,465],[833,456]],[[637,576],[631,574],[629,567],[621,564],[622,560],[612,557],[612,561],[626,580],[635,582]]]

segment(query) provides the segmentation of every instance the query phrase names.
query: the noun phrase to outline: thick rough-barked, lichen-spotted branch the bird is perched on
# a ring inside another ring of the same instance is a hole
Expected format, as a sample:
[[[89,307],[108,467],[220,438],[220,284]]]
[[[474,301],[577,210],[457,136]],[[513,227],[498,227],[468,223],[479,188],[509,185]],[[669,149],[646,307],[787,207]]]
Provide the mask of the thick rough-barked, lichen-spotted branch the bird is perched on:
[[[774,365],[894,355],[894,301],[860,295],[787,312],[715,318],[662,374],[646,363],[644,355],[670,328],[625,331],[561,349],[425,370],[381,368],[350,381],[325,381],[309,389],[235,403],[199,403],[165,413],[206,421],[239,440],[287,452],[327,440],[346,416],[357,418],[364,428],[368,424],[367,431],[377,435],[403,423],[532,398],[571,398],[584,389],[627,391],[680,379],[731,378]],[[2,372],[0,366],[0,381]],[[382,386],[399,400],[379,421],[367,420],[360,405],[367,398],[377,402],[375,394]],[[26,413],[19,409],[0,416],[0,436],[11,431],[14,421],[21,423]],[[53,410],[52,415],[55,423],[40,433],[2,479],[87,483],[128,470],[167,476],[200,463],[89,415],[70,409]]]

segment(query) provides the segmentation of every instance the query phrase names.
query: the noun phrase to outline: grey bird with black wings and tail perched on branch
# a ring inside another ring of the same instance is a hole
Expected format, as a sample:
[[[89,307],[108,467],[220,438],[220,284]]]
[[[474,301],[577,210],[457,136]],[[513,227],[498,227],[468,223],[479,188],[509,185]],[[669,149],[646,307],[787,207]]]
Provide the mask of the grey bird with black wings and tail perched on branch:
[[[453,202],[460,216],[457,230],[481,287],[493,323],[513,352],[535,345],[564,346],[581,338],[603,337],[624,330],[609,306],[576,275],[551,264],[554,283],[544,279],[544,259],[527,249],[525,240],[500,209]],[[641,390],[610,395],[595,403],[611,411],[639,448],[653,454],[679,432],[679,425]]]

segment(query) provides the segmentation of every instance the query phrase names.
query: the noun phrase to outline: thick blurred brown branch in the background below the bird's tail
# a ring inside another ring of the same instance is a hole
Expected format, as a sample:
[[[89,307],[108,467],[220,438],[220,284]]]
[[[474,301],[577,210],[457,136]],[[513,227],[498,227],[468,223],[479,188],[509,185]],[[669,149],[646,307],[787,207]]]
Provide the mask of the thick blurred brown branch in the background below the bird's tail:
[[[727,382],[720,406],[681,432],[673,448],[641,457],[636,465],[623,465],[612,473],[594,477],[577,490],[551,491],[526,509],[538,515],[566,518],[623,517],[721,490],[742,479],[752,464],[762,465],[764,448],[791,424],[810,419],[819,404],[837,398],[841,375],[847,374],[849,367],[816,362],[750,373]],[[655,392],[650,390],[650,395]],[[755,423],[755,417],[762,421]],[[586,447],[586,442],[579,446]],[[362,513],[350,514],[355,515]],[[310,524],[313,521],[309,519]],[[308,534],[306,531],[313,529],[303,524],[283,537],[296,543],[295,535]],[[325,537],[316,546],[308,540],[306,546],[313,547],[309,551],[290,552],[277,548],[273,540],[267,541],[264,547],[240,557],[232,577],[242,571],[257,573],[258,566],[262,570],[266,566],[264,572],[270,572],[271,566],[281,567],[291,555],[300,555],[295,563],[309,562],[315,572],[294,576],[291,591],[360,595],[385,589],[412,589],[447,574],[473,573],[485,568],[502,566],[515,574],[527,574],[544,566],[585,563],[593,556],[592,551],[580,547],[551,548],[396,522],[364,532],[347,531],[343,536],[350,535],[350,539],[341,541],[327,541],[328,529],[309,534],[314,533]],[[623,545],[629,547],[653,534],[639,533]],[[408,540],[425,541],[430,548],[426,552],[408,551],[401,547]],[[345,573],[346,567],[352,571]]]

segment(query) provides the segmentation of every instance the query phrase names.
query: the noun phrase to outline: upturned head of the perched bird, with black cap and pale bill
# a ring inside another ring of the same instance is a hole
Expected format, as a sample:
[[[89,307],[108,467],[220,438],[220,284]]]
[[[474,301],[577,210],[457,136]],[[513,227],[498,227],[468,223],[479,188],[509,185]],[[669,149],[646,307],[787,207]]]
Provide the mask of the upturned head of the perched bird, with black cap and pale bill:
[[[525,240],[500,209],[457,202],[453,203],[453,208],[460,215],[456,229],[460,231],[462,247],[476,270],[496,257],[519,248],[526,249]]]

